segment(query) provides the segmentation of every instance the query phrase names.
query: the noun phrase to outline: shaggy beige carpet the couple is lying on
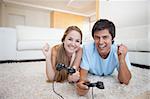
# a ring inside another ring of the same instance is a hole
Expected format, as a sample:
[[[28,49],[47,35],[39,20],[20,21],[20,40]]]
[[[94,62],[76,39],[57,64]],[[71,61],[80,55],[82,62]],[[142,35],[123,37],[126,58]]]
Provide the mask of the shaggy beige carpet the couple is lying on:
[[[94,88],[94,99],[150,99],[150,70],[132,67],[128,86],[118,83],[116,73],[107,77],[89,75],[91,82],[104,82],[105,89]],[[64,99],[92,99],[92,90],[78,96],[73,84],[55,83]],[[61,99],[46,82],[45,62],[0,64],[0,99]]]

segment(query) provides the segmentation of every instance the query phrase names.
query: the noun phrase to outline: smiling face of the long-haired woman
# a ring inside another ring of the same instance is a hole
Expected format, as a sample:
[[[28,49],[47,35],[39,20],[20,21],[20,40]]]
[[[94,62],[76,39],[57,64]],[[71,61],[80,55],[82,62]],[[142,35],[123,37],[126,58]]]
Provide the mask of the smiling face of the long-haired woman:
[[[67,34],[66,38],[64,39],[63,43],[67,54],[72,55],[80,47],[81,43],[80,33],[75,30],[70,31]]]

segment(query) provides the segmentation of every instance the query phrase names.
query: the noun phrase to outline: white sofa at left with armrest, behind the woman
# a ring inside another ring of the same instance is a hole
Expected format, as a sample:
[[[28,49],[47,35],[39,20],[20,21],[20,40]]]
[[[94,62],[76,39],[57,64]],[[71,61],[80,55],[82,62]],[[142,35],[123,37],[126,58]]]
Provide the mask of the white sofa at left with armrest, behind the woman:
[[[60,43],[63,29],[17,26],[0,28],[0,60],[42,59],[45,43]]]

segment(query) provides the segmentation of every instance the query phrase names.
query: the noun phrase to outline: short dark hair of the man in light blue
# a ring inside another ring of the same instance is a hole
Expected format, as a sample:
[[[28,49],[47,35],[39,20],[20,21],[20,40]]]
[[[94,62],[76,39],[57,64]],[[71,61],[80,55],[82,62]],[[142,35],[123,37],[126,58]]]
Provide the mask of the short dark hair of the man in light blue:
[[[112,39],[115,38],[115,25],[113,22],[107,20],[107,19],[100,19],[98,20],[93,28],[92,28],[92,37],[94,38],[94,33],[97,32],[97,31],[101,31],[101,30],[104,30],[104,29],[108,29],[109,33],[111,34],[112,36]],[[112,44],[114,43],[114,41],[112,41]]]

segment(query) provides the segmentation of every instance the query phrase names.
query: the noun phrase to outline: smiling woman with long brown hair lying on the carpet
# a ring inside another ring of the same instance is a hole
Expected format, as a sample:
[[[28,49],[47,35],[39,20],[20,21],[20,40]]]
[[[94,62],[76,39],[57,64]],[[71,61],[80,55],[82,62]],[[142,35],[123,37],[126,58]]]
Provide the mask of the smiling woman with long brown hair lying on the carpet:
[[[62,43],[49,48],[48,44],[43,47],[43,53],[46,57],[46,75],[49,81],[77,82],[79,80],[79,65],[82,57],[82,32],[77,26],[70,26],[65,31]],[[76,72],[72,75],[67,74],[65,69],[56,70],[56,65],[63,63],[73,67]]]

